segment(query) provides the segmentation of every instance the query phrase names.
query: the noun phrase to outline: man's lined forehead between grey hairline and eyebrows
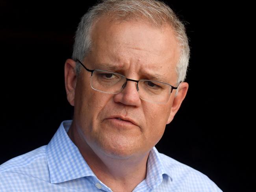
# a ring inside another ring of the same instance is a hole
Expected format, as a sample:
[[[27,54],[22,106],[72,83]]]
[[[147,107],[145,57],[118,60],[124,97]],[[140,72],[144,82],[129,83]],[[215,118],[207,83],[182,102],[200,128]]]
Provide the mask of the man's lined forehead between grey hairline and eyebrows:
[[[159,28],[138,20],[121,22],[102,17],[91,34],[93,63],[147,73],[175,73],[180,48],[170,26]]]

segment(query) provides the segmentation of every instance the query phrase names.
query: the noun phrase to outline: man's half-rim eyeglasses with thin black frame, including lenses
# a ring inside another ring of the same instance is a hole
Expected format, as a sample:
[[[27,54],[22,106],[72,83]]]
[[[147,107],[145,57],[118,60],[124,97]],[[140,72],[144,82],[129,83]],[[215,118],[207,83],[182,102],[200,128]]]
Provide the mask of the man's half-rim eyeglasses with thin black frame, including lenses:
[[[100,92],[108,94],[118,94],[126,87],[127,81],[134,81],[137,83],[137,91],[139,97],[145,101],[152,103],[167,103],[171,92],[177,87],[173,87],[168,83],[163,83],[160,81],[151,81],[147,79],[128,79],[125,76],[110,72],[106,70],[90,70],[83,65],[78,59],[76,62],[79,62],[85,70],[91,72],[91,88]],[[179,83],[180,84],[180,83]]]

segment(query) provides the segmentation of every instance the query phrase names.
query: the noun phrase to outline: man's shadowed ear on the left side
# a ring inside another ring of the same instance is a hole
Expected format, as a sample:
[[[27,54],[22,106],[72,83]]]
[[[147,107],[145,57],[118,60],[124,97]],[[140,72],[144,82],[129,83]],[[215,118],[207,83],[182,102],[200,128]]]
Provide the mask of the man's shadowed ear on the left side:
[[[65,88],[67,100],[70,105],[74,106],[75,89],[76,89],[76,62],[72,59],[67,59],[65,62]]]

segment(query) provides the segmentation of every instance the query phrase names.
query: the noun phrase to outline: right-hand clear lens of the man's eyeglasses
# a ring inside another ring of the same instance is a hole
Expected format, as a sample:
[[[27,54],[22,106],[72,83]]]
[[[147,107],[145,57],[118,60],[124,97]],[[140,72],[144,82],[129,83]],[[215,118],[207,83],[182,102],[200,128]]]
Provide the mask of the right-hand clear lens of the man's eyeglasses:
[[[141,99],[149,102],[166,103],[171,94],[171,86],[159,81],[141,80],[138,87]]]

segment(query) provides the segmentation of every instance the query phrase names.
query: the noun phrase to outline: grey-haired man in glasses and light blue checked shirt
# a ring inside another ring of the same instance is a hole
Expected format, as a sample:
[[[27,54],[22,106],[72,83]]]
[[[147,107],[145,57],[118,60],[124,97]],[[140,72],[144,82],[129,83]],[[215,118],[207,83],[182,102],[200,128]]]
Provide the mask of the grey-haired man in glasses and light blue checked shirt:
[[[65,63],[72,121],[47,146],[0,166],[0,191],[221,191],[161,153],[182,101],[183,24],[154,0],[105,0],[86,13]]]

